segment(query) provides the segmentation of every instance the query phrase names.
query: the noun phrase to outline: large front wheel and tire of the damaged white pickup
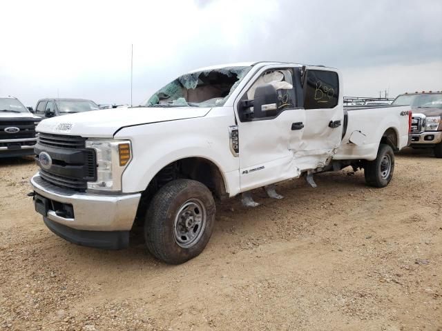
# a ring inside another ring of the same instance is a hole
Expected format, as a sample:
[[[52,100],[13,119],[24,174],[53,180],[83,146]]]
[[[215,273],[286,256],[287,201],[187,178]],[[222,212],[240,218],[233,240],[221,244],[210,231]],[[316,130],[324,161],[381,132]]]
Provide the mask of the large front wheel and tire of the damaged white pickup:
[[[202,219],[201,225],[198,219]],[[177,179],[153,197],[144,221],[144,239],[154,257],[180,264],[204,250],[214,223],[215,201],[210,190],[199,181]]]

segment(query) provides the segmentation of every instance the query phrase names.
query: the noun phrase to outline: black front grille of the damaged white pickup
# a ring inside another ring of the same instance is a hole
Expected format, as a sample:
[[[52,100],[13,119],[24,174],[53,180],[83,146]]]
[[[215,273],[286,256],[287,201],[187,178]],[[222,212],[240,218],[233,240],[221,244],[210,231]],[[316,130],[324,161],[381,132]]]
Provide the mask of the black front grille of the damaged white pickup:
[[[52,159],[48,169],[39,163],[41,152],[48,153]],[[96,180],[97,157],[95,150],[86,148],[86,138],[39,133],[35,154],[41,178],[48,183],[84,192],[88,181]]]

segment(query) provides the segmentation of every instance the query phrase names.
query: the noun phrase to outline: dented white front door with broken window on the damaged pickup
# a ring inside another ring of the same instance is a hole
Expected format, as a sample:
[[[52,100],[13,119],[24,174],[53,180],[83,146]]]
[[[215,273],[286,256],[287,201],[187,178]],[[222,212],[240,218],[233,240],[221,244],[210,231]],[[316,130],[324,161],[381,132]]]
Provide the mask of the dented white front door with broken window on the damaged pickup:
[[[273,67],[273,68],[272,68]],[[294,68],[267,66],[247,83],[235,103],[238,114],[241,192],[270,183],[297,177],[300,170],[294,148],[300,146],[304,131],[305,110],[297,106]],[[244,117],[244,100],[253,100],[258,86],[270,84],[278,94],[276,109],[250,108]]]

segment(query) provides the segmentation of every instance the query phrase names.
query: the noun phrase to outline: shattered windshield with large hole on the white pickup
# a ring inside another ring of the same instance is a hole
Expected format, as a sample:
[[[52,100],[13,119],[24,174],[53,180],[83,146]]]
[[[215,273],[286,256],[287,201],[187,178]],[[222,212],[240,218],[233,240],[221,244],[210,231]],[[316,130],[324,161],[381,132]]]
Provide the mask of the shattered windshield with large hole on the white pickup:
[[[183,74],[157,91],[146,107],[218,107],[224,105],[251,67],[226,67]]]

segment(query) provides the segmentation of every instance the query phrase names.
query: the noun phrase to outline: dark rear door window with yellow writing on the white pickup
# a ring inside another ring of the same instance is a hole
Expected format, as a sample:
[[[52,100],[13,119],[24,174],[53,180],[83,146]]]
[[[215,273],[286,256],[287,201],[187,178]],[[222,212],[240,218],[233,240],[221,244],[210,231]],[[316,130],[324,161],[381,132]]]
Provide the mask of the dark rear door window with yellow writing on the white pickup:
[[[334,108],[338,105],[338,74],[327,70],[307,70],[304,81],[304,108]]]

